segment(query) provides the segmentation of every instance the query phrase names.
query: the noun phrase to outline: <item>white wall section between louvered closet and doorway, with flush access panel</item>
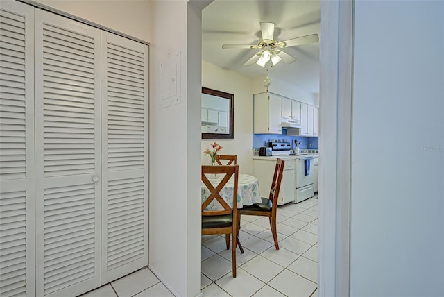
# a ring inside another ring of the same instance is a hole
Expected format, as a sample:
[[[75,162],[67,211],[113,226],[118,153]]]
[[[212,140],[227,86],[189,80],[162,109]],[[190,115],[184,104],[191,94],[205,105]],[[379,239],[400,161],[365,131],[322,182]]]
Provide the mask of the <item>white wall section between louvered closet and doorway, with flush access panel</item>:
[[[197,296],[200,10],[189,8],[187,1],[152,1],[151,9],[149,267],[176,295]],[[178,54],[178,101],[162,106],[162,96],[169,94],[169,88],[163,85],[171,82],[169,76],[162,78],[162,74],[168,73],[165,69],[171,65],[176,69],[169,56]]]

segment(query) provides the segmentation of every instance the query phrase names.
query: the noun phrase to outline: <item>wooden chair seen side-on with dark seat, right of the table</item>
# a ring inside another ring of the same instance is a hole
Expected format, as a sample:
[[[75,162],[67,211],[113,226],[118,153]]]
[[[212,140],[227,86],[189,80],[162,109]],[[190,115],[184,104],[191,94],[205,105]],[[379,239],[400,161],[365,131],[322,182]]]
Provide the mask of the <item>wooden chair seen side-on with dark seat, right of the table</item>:
[[[271,183],[270,194],[268,198],[262,197],[262,203],[253,205],[244,205],[243,208],[237,212],[237,226],[238,232],[241,226],[241,215],[251,216],[265,216],[270,219],[271,233],[273,233],[273,239],[275,241],[275,247],[278,250],[278,233],[276,231],[276,209],[278,208],[278,196],[280,191],[280,183],[282,181],[282,175],[284,172],[284,160],[278,159],[276,161],[275,173],[273,175],[273,182]]]

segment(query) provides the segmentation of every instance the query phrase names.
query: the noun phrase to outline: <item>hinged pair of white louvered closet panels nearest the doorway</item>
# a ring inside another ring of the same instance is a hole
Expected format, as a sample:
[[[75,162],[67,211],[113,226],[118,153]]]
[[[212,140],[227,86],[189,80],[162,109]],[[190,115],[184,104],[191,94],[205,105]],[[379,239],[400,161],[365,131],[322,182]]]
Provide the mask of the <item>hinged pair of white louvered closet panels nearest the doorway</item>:
[[[148,46],[35,12],[37,296],[148,264]]]

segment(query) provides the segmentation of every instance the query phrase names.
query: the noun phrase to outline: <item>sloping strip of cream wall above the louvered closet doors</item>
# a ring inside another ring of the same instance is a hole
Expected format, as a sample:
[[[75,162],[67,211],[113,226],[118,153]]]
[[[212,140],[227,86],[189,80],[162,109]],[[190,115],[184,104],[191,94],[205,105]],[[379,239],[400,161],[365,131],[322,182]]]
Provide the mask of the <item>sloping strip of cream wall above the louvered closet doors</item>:
[[[149,42],[149,0],[37,0],[57,10]]]

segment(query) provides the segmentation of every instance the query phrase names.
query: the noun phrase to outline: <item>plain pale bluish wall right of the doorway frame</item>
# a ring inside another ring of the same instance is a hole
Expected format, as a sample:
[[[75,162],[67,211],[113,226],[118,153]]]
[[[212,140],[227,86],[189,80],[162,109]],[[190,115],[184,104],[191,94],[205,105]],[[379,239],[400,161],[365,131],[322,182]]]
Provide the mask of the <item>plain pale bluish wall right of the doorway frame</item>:
[[[443,15],[355,1],[350,296],[444,296]]]

